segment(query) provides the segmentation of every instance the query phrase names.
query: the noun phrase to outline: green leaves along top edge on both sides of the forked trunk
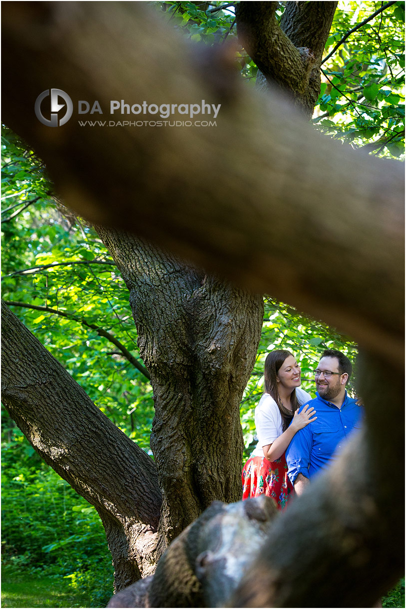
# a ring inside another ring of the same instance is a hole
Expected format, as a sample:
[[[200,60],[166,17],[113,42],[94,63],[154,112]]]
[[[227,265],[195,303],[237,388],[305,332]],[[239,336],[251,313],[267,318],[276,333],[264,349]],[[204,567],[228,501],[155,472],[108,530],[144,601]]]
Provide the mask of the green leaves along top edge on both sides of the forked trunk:
[[[234,4],[165,2],[160,7],[190,40],[223,44],[237,38]],[[279,2],[277,18],[284,10],[285,2]],[[312,119],[319,130],[375,155],[404,157],[404,23],[404,2],[338,2]],[[258,68],[242,47],[236,65],[253,86]]]

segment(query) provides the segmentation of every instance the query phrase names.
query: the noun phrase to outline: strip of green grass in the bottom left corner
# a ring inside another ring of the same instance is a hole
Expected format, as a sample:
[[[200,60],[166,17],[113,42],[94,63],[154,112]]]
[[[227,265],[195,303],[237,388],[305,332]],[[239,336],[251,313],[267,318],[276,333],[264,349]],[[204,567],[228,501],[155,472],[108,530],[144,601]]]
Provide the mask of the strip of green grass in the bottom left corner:
[[[63,577],[12,574],[2,569],[2,607],[88,607],[87,599],[75,593]]]

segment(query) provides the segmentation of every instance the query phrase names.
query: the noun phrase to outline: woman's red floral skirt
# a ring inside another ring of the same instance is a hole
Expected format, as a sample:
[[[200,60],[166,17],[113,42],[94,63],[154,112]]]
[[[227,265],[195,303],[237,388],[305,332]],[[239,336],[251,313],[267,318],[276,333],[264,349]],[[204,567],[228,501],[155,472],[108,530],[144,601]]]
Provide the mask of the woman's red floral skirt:
[[[243,499],[268,495],[283,510],[288,500],[294,496],[293,485],[288,478],[285,453],[276,461],[265,457],[249,457],[243,468]]]

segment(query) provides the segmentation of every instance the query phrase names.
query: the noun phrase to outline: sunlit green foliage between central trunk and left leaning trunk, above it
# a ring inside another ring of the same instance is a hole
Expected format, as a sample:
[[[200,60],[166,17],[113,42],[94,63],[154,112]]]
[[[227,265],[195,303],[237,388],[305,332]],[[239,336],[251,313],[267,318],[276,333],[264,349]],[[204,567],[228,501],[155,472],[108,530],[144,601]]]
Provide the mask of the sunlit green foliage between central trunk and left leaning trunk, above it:
[[[7,209],[20,197],[40,197],[2,222],[2,298],[68,314],[66,319],[12,308],[102,412],[149,451],[151,385],[97,329],[80,322],[112,334],[142,364],[124,281],[94,230],[44,195],[52,185],[43,166],[7,128],[2,153],[2,206]]]

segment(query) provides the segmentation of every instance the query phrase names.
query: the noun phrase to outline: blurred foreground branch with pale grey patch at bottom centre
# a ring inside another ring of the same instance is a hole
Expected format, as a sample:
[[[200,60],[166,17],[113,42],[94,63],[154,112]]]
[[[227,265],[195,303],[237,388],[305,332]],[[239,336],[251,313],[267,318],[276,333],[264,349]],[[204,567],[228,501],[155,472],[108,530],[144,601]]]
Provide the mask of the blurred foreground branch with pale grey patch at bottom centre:
[[[116,594],[107,607],[224,607],[276,515],[265,495],[214,501],[168,547],[154,576]]]

